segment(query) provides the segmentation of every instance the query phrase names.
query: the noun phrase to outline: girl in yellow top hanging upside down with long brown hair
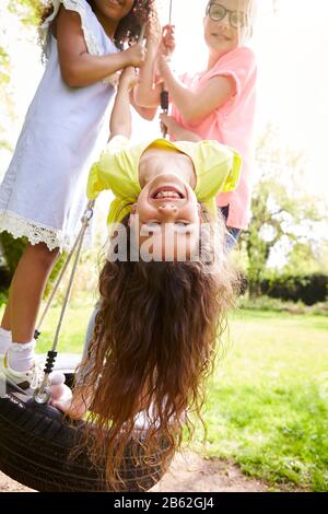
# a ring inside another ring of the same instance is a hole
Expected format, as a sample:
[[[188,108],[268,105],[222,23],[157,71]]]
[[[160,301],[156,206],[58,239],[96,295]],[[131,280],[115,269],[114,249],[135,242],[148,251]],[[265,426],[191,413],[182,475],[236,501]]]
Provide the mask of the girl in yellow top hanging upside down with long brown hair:
[[[93,462],[106,455],[112,484],[138,428],[147,455],[159,441],[168,442],[167,462],[183,428],[191,433],[190,413],[200,416],[237,282],[215,196],[236,187],[238,154],[215,141],[130,145],[134,83],[134,70],[125,70],[112,139],[89,177],[89,198],[103,189],[115,195],[95,328],[73,399],[52,401],[75,419],[90,409],[85,444]]]

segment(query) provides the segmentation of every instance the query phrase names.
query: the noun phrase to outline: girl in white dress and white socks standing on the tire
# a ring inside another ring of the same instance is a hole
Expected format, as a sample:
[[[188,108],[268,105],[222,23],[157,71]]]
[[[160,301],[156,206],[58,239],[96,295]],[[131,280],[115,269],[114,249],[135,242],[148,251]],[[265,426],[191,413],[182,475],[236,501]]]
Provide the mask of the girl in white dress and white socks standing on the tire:
[[[108,138],[113,73],[144,60],[138,36],[152,2],[51,0],[45,8],[45,73],[0,185],[0,232],[28,240],[0,328],[1,365],[17,384],[35,378],[44,289],[80,229],[89,170]]]

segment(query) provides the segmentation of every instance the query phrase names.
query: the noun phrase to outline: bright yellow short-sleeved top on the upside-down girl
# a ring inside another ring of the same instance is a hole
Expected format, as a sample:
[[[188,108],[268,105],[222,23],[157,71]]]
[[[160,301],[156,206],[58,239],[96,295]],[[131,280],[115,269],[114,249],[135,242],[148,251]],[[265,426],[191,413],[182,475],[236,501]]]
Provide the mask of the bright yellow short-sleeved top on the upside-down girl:
[[[103,151],[99,161],[93,164],[87,182],[87,197],[97,198],[104,189],[110,189],[115,199],[110,203],[108,223],[120,222],[136,203],[141,187],[139,162],[150,147],[169,148],[188,155],[195,167],[197,184],[195,194],[216,219],[215,196],[231,191],[238,185],[242,157],[230,147],[216,141],[175,141],[152,139],[131,144],[124,136],[116,136]]]

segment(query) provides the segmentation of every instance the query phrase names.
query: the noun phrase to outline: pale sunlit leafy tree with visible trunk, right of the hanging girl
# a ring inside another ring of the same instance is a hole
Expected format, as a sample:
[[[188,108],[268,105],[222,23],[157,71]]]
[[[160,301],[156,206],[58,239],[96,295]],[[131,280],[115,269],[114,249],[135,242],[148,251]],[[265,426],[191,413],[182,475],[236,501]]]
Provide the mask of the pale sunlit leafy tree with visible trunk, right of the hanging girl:
[[[325,201],[306,191],[304,155],[279,145],[272,126],[258,141],[256,164],[259,179],[253,194],[253,218],[241,237],[247,254],[250,296],[260,294],[272,249],[278,244],[290,252],[295,245],[294,252],[300,245],[315,245],[315,229],[327,212]]]

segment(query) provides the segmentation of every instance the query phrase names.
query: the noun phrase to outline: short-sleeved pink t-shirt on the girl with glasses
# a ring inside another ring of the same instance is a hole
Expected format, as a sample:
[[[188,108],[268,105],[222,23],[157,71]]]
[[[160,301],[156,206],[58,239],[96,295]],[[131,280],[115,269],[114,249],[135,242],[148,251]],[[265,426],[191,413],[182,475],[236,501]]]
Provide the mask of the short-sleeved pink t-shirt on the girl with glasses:
[[[250,211],[250,170],[253,167],[253,128],[255,118],[256,60],[250,48],[238,47],[225,54],[206,73],[180,77],[181,82],[194,92],[200,91],[215,75],[232,77],[235,95],[213,110],[197,125],[187,124],[177,107],[172,105],[172,116],[188,130],[202,139],[216,140],[235,148],[243,157],[243,168],[237,188],[216,197],[220,207],[230,206],[227,226],[245,229]]]

